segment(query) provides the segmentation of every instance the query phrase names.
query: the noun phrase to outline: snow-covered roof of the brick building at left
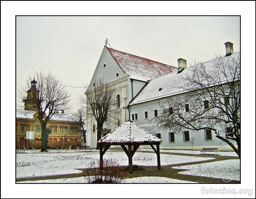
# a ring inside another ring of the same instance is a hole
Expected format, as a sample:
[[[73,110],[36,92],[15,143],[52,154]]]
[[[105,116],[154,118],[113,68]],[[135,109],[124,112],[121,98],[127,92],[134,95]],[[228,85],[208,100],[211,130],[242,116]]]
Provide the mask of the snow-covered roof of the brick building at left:
[[[20,109],[16,110],[16,118],[34,120],[35,114],[36,114],[36,111],[28,111],[28,110],[20,110]],[[71,122],[70,116],[65,113],[56,113],[51,117],[51,120]]]

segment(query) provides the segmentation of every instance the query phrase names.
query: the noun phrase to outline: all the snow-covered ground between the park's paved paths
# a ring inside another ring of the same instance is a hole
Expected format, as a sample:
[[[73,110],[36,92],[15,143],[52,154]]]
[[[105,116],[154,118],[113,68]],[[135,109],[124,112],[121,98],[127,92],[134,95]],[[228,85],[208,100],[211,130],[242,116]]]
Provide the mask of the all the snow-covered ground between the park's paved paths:
[[[152,149],[142,149],[143,151],[152,151]],[[161,150],[162,152],[174,152],[198,154],[198,151],[189,150]],[[221,153],[236,156],[234,152]],[[128,158],[123,151],[109,150],[104,154],[105,159],[113,159],[120,166],[128,165]],[[189,163],[204,160],[213,160],[209,157],[194,157],[184,155],[161,154],[161,165],[173,165],[179,163]],[[91,161],[99,160],[99,151],[70,151],[70,150],[50,150],[49,152],[40,152],[40,150],[26,151],[26,153],[16,154],[16,178],[47,176],[59,174],[81,173],[79,168],[87,168]],[[143,166],[157,166],[157,157],[155,153],[135,153],[133,164]],[[232,172],[234,180],[240,180],[240,160],[225,160],[210,163],[201,163],[195,165],[186,165],[174,167],[176,169],[188,169],[181,171],[180,174],[196,175],[221,178],[225,171]],[[141,177],[138,179],[127,179],[126,183],[189,183],[176,179],[166,179],[160,177]],[[24,183],[24,182],[23,182]],[[38,180],[25,181],[25,183],[86,183],[84,178],[57,179],[57,180]]]

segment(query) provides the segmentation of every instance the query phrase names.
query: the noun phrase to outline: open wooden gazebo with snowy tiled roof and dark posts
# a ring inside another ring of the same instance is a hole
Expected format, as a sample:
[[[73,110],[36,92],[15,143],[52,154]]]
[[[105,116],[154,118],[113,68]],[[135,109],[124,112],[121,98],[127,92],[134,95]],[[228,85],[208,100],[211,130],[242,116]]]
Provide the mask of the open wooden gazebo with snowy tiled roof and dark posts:
[[[111,145],[120,145],[129,160],[129,173],[133,173],[132,157],[140,145],[150,145],[157,155],[157,169],[161,169],[159,145],[161,139],[153,136],[136,123],[128,120],[100,140],[100,169],[103,169],[103,155]],[[128,146],[128,150],[126,148]],[[156,145],[156,149],[154,147]],[[103,146],[105,147],[103,150]],[[132,149],[133,147],[133,149]]]

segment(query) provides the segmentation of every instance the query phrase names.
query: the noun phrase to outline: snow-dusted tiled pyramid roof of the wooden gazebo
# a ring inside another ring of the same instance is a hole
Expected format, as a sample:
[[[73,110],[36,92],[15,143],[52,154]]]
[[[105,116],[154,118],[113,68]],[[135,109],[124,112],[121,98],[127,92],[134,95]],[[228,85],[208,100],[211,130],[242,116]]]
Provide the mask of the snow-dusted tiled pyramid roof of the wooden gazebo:
[[[132,121],[127,121],[110,132],[98,142],[102,143],[130,143],[130,142],[162,142],[141,126]]]

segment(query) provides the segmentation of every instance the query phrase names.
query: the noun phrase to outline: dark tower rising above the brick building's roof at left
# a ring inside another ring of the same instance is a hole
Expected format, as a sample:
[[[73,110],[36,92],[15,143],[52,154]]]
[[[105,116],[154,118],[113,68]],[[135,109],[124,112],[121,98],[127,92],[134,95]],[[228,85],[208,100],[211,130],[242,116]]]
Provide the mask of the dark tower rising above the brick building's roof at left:
[[[27,99],[23,100],[25,102],[24,110],[37,111],[36,102],[39,100],[39,90],[36,88],[37,81],[35,78],[31,81],[31,88],[27,91]]]

